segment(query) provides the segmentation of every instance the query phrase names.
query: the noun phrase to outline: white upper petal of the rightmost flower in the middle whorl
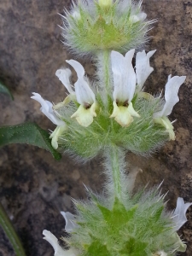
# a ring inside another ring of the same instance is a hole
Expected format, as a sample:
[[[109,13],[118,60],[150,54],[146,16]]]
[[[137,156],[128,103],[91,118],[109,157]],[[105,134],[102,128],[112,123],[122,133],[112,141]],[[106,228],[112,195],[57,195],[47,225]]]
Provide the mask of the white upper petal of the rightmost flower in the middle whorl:
[[[175,106],[177,102],[179,102],[178,98],[178,90],[180,86],[184,83],[186,79],[185,76],[182,77],[173,77],[171,75],[168,77],[168,82],[166,83],[166,90],[165,90],[165,100],[166,103],[163,109],[160,112],[154,113],[154,117],[161,117],[167,116],[172,113],[172,108]]]

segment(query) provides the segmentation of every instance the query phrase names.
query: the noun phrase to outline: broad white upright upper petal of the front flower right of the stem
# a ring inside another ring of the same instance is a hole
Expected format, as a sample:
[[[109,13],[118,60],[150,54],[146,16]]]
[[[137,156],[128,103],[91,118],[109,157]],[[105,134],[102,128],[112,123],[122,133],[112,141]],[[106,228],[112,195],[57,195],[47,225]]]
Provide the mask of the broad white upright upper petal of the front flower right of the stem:
[[[113,100],[116,102],[131,102],[136,90],[136,74],[132,67],[132,57],[135,49],[129,50],[125,57],[117,51],[111,53],[113,71]]]

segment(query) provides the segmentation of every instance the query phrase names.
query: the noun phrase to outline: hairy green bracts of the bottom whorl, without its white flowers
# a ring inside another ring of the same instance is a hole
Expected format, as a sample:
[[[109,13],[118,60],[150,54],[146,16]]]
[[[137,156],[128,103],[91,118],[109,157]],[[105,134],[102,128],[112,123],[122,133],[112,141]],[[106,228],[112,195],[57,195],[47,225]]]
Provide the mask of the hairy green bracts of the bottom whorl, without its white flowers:
[[[163,250],[175,255],[172,214],[158,189],[127,195],[123,201],[99,197],[76,201],[76,228],[65,241],[82,256],[148,256]]]

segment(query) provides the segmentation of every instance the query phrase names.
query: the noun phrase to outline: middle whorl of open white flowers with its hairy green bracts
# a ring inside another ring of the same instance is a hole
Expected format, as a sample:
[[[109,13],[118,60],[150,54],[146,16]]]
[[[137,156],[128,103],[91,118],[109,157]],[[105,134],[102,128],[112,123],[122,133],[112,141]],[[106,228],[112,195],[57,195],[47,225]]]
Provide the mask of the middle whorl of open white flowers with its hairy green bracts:
[[[122,146],[126,143],[126,149],[138,154],[142,154],[141,143],[145,145],[145,143],[150,142],[148,137],[153,137],[152,134],[154,134],[154,140],[151,139],[151,144],[143,146],[145,152],[154,150],[154,144],[159,147],[167,138],[174,140],[173,126],[167,116],[172,113],[172,108],[179,101],[177,93],[185,77],[175,76],[171,78],[171,75],[169,76],[166,83],[165,101],[160,97],[154,97],[143,92],[143,85],[148,79],[148,75],[154,70],[149,63],[154,52],[155,50],[149,51],[148,54],[144,50],[138,52],[134,69],[132,58],[135,49],[129,50],[125,56],[117,51],[112,51],[110,59],[113,84],[111,86],[112,91],[108,90],[108,106],[104,104],[106,99],[103,100],[102,98],[102,90],[97,88],[96,83],[90,84],[89,79],[85,77],[84,67],[78,61],[67,61],[78,76],[74,85],[70,82],[71,71],[69,68],[57,70],[56,76],[68,91],[68,96],[64,102],[53,106],[52,103],[45,101],[37,93],[33,93],[32,96],[32,99],[40,102],[41,111],[57,125],[55,131],[50,135],[52,146],[58,148],[59,145],[62,147],[64,144],[63,147],[65,148],[67,143],[64,142],[67,139],[69,142],[69,133],[74,131],[79,134],[81,140],[75,144],[81,144],[82,140],[86,139],[88,144],[86,149],[89,152],[91,152],[92,140],[88,139],[87,132],[91,133],[90,136],[94,137],[95,140],[96,137],[101,138],[102,146],[98,142],[99,146],[96,146],[94,154],[90,155],[91,157],[98,154],[101,148],[104,148],[108,143],[111,143],[112,137],[113,143],[122,144]],[[138,147],[138,142],[131,143],[130,139],[131,133],[135,134],[136,131],[137,136],[134,135],[134,137],[135,139],[139,137],[137,139],[140,141]],[[124,143],[119,141],[120,132],[123,133]],[[126,136],[130,137],[126,138]],[[105,137],[104,140],[103,137]],[[72,151],[76,151],[76,149],[73,148]],[[80,155],[85,156],[85,153]]]

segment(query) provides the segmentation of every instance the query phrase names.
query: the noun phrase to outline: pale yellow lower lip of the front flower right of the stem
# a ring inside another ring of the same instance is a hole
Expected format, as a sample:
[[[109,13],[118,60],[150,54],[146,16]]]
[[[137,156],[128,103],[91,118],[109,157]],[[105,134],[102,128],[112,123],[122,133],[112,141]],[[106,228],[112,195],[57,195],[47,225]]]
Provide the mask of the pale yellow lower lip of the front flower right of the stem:
[[[114,118],[116,122],[122,127],[128,127],[131,125],[133,118],[132,116],[140,117],[140,115],[132,107],[132,103],[128,107],[117,106],[116,102],[113,102],[113,113],[110,118]]]

